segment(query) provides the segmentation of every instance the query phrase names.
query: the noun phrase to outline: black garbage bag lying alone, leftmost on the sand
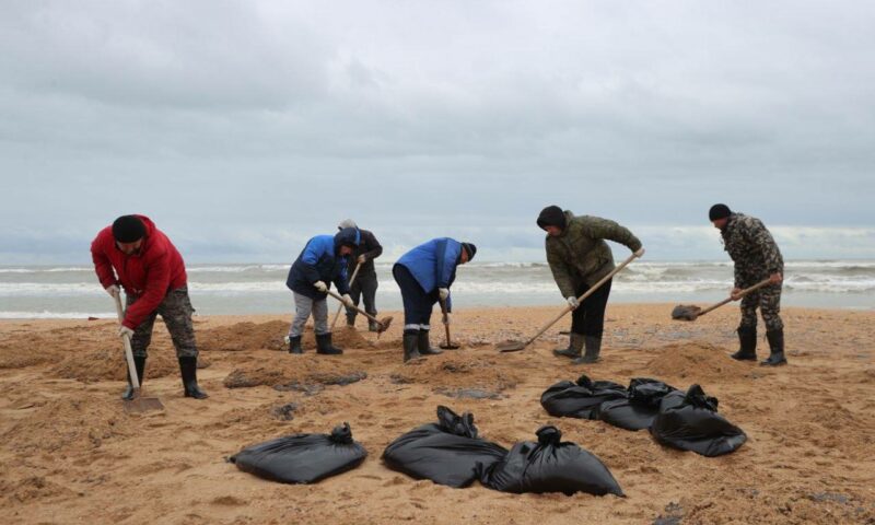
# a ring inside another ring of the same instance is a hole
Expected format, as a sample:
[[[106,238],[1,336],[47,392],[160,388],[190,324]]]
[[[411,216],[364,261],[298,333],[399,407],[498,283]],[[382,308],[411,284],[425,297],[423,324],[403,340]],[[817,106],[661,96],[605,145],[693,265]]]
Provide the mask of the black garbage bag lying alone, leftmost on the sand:
[[[246,447],[229,458],[244,472],[281,483],[315,483],[351,470],[368,451],[352,441],[349,423],[330,434],[294,434]]]

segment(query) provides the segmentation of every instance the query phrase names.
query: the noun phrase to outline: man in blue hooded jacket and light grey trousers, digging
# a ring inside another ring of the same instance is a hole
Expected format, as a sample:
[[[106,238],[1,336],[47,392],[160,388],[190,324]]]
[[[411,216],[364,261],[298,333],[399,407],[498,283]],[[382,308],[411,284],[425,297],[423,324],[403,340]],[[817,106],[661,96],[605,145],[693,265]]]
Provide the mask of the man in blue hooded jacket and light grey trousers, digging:
[[[334,237],[316,235],[307,242],[298,256],[285,285],[294,293],[295,314],[289,328],[289,353],[304,353],[301,349],[301,335],[310,314],[313,314],[316,332],[316,352],[339,354],[343,350],[331,345],[331,331],[328,327],[328,288],[331,282],[343,296],[343,304],[352,305],[347,281],[347,258],[360,242],[359,231],[345,228]]]

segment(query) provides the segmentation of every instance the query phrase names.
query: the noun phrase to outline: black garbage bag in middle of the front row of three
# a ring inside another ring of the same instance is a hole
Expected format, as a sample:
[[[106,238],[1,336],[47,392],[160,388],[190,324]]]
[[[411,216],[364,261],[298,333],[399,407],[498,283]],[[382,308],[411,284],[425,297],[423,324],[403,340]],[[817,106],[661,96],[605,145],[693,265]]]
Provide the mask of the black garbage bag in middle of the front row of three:
[[[398,436],[383,452],[383,462],[412,478],[462,488],[506,454],[503,446],[477,436],[471,413],[458,416],[439,406],[438,422]]]

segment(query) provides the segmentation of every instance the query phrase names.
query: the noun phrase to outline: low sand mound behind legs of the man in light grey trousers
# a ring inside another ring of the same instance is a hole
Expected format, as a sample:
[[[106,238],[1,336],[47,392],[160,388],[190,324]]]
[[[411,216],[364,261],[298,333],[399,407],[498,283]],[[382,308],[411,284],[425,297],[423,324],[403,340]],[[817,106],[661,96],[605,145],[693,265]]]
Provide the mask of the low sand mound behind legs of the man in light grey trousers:
[[[198,346],[203,351],[238,352],[245,350],[287,350],[283,340],[289,332],[289,323],[236,323],[234,325],[210,328],[198,332]],[[331,342],[340,348],[371,348],[373,345],[354,329],[336,329]],[[304,329],[301,341],[304,350],[316,349],[313,327]]]

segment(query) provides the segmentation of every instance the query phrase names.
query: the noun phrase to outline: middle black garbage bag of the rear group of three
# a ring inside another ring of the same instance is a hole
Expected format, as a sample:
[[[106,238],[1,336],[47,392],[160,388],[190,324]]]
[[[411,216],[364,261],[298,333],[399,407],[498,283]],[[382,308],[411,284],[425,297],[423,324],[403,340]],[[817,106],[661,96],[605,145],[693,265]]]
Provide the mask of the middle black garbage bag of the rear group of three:
[[[663,397],[675,390],[677,388],[662,381],[635,377],[629,383],[629,397],[603,402],[598,407],[598,419],[626,430],[646,429],[660,412]]]

